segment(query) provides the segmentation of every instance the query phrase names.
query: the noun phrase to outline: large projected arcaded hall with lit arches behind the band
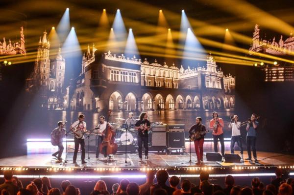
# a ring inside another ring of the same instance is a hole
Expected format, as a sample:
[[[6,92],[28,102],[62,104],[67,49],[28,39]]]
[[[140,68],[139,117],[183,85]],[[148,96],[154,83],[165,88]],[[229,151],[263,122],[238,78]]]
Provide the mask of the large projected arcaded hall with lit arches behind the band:
[[[82,72],[68,88],[71,110],[233,109],[235,78],[208,56],[206,67],[184,69],[88,48]]]

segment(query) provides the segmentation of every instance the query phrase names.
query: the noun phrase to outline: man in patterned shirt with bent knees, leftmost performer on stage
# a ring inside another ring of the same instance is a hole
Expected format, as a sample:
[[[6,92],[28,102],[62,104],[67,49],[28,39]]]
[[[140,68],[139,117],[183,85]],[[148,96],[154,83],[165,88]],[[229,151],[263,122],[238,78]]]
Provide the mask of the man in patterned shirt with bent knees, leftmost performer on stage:
[[[55,156],[57,157],[56,155],[58,154],[58,157],[57,159],[59,161],[62,161],[62,158],[61,158],[61,155],[62,155],[62,152],[63,152],[63,144],[62,144],[62,141],[63,141],[63,137],[66,133],[65,129],[64,129],[64,124],[62,121],[58,121],[57,123],[58,127],[55,128],[54,130],[52,130],[51,132],[51,137],[56,140],[56,143],[57,143],[57,146],[58,146],[58,151],[53,153],[52,156]]]

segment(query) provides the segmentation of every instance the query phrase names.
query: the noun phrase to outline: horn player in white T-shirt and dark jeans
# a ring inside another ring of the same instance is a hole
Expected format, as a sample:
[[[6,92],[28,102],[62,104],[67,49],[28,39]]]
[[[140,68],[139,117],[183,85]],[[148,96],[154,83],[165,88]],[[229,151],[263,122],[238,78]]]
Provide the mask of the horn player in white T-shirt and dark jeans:
[[[237,115],[234,115],[232,118],[232,121],[229,124],[229,128],[232,128],[231,153],[234,153],[234,146],[235,146],[235,143],[237,142],[241,152],[241,158],[243,159],[243,148],[242,148],[241,132],[240,132],[241,122],[238,121],[238,119],[239,117]]]

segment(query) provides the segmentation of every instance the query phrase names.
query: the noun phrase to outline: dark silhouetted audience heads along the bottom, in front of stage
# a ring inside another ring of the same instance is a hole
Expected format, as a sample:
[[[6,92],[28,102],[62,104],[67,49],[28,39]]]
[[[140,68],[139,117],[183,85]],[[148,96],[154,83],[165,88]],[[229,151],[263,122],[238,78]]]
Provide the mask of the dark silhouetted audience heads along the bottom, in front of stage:
[[[154,182],[156,176],[157,183]],[[74,187],[69,180],[62,181],[61,189],[52,188],[48,177],[32,180],[26,187],[21,180],[13,176],[11,170],[4,171],[5,182],[0,185],[1,195],[80,195],[79,188]],[[241,187],[235,184],[232,175],[224,179],[225,188],[209,181],[209,173],[201,172],[199,185],[188,179],[180,181],[177,176],[169,177],[165,170],[147,172],[146,183],[138,185],[128,179],[122,179],[112,186],[111,195],[294,195],[294,179],[282,178],[282,170],[276,170],[276,178],[265,186],[258,177],[251,181],[251,187]],[[167,185],[169,183],[169,185]],[[97,181],[90,195],[110,195],[106,183]]]

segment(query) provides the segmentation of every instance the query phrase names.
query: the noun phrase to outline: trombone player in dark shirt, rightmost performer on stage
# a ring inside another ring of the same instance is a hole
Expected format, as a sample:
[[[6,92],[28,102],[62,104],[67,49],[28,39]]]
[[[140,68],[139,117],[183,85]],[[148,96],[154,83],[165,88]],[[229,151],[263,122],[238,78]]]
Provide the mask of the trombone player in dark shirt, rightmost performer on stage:
[[[258,121],[256,121],[256,114],[251,115],[251,119],[248,120],[246,130],[247,130],[247,136],[246,136],[246,145],[247,145],[247,152],[248,152],[248,158],[246,160],[251,161],[251,148],[252,153],[254,157],[254,161],[257,161],[257,155],[256,155],[256,149],[255,149],[255,142],[256,142],[256,130],[258,127]]]

